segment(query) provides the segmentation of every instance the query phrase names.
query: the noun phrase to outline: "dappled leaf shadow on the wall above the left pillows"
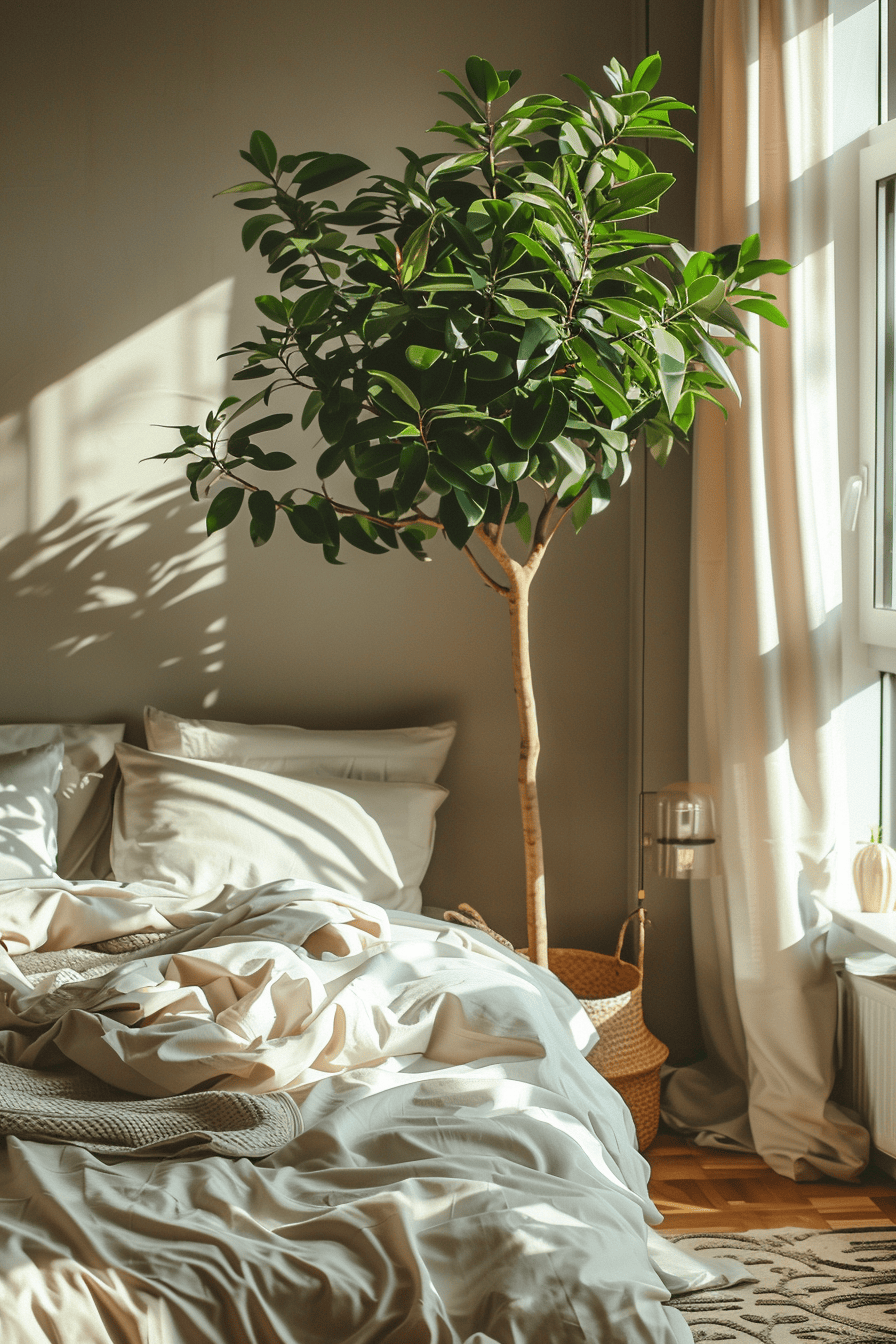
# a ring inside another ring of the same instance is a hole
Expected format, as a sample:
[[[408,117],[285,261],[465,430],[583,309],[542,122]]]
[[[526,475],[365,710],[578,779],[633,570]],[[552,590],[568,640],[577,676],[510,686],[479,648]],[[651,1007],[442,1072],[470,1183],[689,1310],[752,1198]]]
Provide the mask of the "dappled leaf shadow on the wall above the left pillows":
[[[199,684],[216,699],[223,539],[180,482],[81,512],[67,500],[0,547],[0,716],[125,720]]]

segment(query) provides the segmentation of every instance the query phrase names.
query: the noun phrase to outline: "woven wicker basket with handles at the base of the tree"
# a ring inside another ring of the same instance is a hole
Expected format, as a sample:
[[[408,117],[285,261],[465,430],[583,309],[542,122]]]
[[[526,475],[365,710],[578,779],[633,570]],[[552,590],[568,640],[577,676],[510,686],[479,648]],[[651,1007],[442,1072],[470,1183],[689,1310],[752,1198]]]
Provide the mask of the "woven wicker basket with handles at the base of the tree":
[[[445,918],[481,929],[504,946],[510,946],[506,938],[489,929],[472,906],[462,905],[461,910],[465,914],[449,910]],[[631,919],[638,921],[637,966],[622,960],[622,942]],[[660,1068],[669,1054],[668,1047],[647,1031],[643,1020],[643,926],[642,909],[629,915],[619,930],[613,957],[583,948],[548,948],[548,968],[572,991],[600,1036],[587,1060],[615,1087],[631,1111],[641,1152],[660,1128]],[[525,948],[514,950],[528,958]]]

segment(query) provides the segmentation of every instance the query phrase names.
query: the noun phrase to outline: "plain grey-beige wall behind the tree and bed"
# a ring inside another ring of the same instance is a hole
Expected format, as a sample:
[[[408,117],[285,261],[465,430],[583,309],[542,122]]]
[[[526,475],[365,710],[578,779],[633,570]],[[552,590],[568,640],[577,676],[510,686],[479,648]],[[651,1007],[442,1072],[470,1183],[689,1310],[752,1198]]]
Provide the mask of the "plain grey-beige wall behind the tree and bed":
[[[693,101],[699,0],[653,8],[662,90]],[[240,250],[243,216],[212,194],[240,180],[254,128],[281,152],[341,151],[391,171],[394,145],[441,144],[424,136],[449,108],[438,67],[461,70],[476,51],[519,65],[521,94],[560,90],[564,71],[596,82],[611,55],[642,54],[641,0],[70,0],[17,8],[4,28],[0,718],[124,718],[137,742],[146,702],[310,727],[455,718],[426,895],[470,900],[521,939],[498,598],[447,544],[429,566],[355,552],[330,569],[292,535],[259,552],[238,530],[210,543],[172,469],[140,460],[172,442],[153,423],[195,421],[224,395],[215,356],[253,333],[266,277]],[[665,226],[688,238],[692,164],[657,157],[682,169]],[[557,538],[533,591],[555,945],[606,950],[633,896],[635,487],[582,536]],[[650,469],[647,496],[654,788],[686,774],[686,457]],[[684,892],[657,900],[662,993],[647,999],[654,1030],[686,1055]]]

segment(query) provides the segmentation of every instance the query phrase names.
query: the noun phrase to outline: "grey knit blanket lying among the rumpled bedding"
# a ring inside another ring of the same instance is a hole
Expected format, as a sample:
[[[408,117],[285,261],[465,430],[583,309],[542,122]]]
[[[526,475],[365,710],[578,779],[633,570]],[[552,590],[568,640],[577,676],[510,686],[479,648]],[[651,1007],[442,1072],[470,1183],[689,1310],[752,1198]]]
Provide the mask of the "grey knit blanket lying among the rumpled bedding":
[[[54,973],[59,993],[66,981],[81,982],[145,956],[164,937],[133,934],[95,948],[31,952],[15,962],[32,984]],[[0,1134],[17,1138],[132,1157],[253,1159],[269,1156],[301,1132],[298,1106],[285,1093],[134,1097],[71,1064],[51,1073],[0,1063]]]

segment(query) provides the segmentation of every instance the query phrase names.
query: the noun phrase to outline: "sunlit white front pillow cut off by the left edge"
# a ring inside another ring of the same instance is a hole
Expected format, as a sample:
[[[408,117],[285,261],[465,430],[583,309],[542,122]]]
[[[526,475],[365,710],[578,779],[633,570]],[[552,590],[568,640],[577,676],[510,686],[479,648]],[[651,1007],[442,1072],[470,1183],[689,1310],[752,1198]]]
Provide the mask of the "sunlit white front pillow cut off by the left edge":
[[[55,742],[0,755],[0,880],[55,872],[63,753],[56,730]]]

